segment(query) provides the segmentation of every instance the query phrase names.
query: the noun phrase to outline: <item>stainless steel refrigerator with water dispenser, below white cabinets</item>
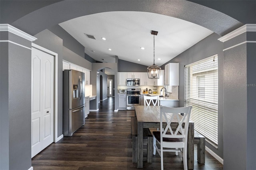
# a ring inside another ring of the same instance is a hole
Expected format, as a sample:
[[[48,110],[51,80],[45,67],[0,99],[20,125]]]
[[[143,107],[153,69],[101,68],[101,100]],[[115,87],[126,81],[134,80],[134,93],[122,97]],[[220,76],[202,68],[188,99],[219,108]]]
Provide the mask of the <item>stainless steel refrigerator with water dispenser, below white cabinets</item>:
[[[63,135],[72,136],[85,123],[84,73],[63,71]]]

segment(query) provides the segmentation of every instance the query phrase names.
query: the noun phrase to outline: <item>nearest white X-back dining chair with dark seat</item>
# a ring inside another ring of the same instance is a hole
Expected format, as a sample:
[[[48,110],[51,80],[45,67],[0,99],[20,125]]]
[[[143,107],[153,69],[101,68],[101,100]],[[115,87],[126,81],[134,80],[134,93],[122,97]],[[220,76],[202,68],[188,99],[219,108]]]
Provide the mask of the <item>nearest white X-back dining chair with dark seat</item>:
[[[187,142],[188,142],[188,123],[190,119],[190,112],[192,106],[188,107],[166,107],[160,106],[160,129],[161,131],[154,131],[154,138],[160,144],[160,148],[156,144],[154,147],[161,156],[161,170],[164,169],[163,152],[183,152],[183,166],[184,170],[188,169],[187,163]],[[180,114],[184,115],[181,117]],[[176,120],[176,121],[174,121]],[[163,123],[166,126],[163,127]],[[175,128],[172,128],[172,123],[178,123]],[[184,127],[182,124],[184,123]],[[177,154],[176,154],[177,155]]]

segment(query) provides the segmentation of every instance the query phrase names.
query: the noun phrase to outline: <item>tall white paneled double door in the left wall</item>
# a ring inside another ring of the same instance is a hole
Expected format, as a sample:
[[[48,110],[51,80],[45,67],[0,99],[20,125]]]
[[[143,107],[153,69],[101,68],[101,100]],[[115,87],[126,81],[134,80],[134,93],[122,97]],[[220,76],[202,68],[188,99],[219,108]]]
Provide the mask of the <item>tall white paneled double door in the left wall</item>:
[[[32,47],[31,156],[54,139],[54,56]]]

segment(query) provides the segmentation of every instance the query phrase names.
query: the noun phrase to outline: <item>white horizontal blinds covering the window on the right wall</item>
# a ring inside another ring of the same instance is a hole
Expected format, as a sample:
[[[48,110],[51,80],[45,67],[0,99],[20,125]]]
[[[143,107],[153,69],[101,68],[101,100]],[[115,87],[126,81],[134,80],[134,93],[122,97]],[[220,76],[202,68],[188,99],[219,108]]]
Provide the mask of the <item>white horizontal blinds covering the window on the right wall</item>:
[[[218,56],[185,66],[184,105],[192,105],[190,119],[206,140],[218,146]]]

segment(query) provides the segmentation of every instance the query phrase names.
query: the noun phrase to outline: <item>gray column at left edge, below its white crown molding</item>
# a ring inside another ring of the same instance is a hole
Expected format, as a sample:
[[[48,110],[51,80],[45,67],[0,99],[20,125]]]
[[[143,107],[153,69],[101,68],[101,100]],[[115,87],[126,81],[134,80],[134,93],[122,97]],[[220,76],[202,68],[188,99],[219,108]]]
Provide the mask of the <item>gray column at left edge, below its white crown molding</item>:
[[[31,42],[1,32],[0,40],[31,48]],[[31,167],[31,50],[0,42],[0,169]]]

